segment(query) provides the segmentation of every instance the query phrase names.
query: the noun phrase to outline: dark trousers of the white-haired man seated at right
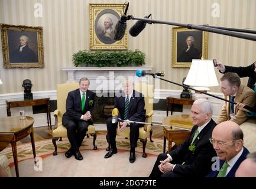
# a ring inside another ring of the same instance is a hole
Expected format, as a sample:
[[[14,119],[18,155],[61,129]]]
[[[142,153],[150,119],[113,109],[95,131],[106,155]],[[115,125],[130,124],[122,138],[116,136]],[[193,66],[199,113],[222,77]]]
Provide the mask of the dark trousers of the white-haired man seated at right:
[[[182,175],[176,174],[173,171],[168,171],[163,174],[163,172],[159,170],[158,165],[160,165],[160,161],[164,161],[164,159],[166,158],[167,158],[166,153],[162,153],[158,155],[157,161],[155,161],[155,165],[149,177],[183,177]],[[171,163],[173,164],[173,161]]]

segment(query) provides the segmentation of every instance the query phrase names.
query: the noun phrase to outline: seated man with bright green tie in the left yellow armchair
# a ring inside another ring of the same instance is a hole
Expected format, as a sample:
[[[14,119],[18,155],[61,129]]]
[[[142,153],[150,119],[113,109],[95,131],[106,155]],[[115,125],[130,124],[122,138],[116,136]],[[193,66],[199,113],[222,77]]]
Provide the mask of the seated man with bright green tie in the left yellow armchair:
[[[67,128],[67,138],[71,148],[65,153],[67,158],[74,157],[82,160],[79,148],[85,138],[88,126],[92,125],[92,110],[94,107],[95,93],[88,90],[90,81],[87,77],[79,80],[79,89],[67,94],[66,113],[62,118],[62,124]]]

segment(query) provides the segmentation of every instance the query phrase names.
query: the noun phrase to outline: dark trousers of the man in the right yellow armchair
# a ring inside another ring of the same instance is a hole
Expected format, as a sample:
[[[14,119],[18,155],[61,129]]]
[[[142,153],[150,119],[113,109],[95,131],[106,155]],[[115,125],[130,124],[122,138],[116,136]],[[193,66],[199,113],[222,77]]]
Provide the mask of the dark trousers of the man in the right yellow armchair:
[[[115,137],[116,137],[117,124],[118,123],[112,123],[112,118],[108,118],[106,120],[106,127],[108,129],[107,141],[109,142],[109,144],[111,144],[111,148],[116,148]],[[139,129],[142,126],[143,126],[142,124],[137,124],[137,123],[131,123],[131,125],[129,126],[130,128],[129,139],[130,139],[131,148],[137,147],[137,141],[140,134]]]

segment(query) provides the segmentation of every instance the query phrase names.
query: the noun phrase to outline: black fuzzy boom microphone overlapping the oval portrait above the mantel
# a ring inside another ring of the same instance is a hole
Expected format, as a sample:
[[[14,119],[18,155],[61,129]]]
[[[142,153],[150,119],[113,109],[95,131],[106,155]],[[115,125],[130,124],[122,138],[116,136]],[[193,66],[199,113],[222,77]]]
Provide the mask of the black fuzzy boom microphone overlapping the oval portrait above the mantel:
[[[129,2],[125,8],[125,12],[122,15],[121,19],[116,23],[115,25],[115,31],[114,31],[114,40],[119,41],[122,40],[125,34],[125,30],[127,27],[126,21],[127,21],[127,11],[129,7]]]

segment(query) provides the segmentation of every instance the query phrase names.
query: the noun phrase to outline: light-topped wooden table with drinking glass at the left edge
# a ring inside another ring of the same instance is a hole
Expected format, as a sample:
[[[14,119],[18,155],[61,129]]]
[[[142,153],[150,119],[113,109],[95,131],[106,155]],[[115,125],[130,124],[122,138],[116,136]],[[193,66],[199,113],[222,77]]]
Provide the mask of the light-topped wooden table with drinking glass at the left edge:
[[[20,116],[0,118],[0,151],[2,151],[11,143],[17,177],[19,177],[19,168],[16,142],[30,134],[33,155],[35,158],[33,123],[34,118],[30,116],[25,116],[25,119],[22,120],[20,119]]]

